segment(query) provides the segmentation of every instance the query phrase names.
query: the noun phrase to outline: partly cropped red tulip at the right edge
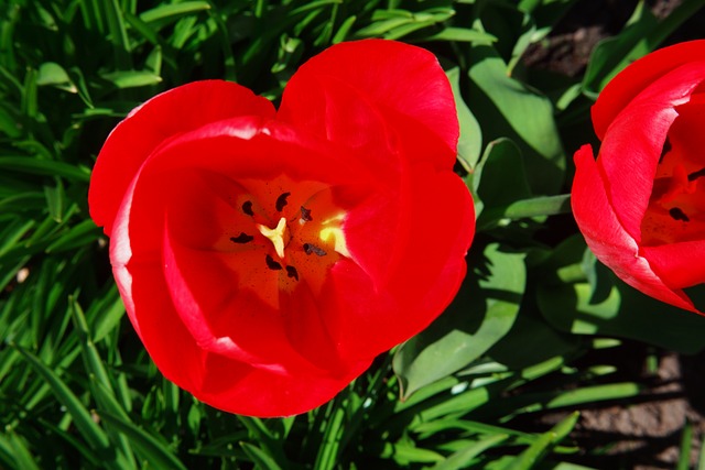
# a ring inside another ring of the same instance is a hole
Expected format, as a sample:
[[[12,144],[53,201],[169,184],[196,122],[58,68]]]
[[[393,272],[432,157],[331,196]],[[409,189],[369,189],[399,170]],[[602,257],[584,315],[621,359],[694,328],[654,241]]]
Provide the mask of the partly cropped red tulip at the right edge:
[[[572,205],[595,255],[647,295],[699,313],[705,282],[705,41],[657,51],[593,107],[601,146],[575,154]]]

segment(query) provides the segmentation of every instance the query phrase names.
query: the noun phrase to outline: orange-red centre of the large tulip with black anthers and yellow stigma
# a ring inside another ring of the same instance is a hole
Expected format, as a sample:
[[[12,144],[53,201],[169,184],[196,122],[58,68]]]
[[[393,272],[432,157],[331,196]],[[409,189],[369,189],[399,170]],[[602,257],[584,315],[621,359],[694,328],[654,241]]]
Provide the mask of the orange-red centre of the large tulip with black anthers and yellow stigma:
[[[283,175],[242,181],[240,187],[229,204],[227,244],[221,245],[240,283],[272,306],[279,292],[291,293],[302,284],[319,292],[328,270],[349,258],[346,212],[336,203],[336,189]]]

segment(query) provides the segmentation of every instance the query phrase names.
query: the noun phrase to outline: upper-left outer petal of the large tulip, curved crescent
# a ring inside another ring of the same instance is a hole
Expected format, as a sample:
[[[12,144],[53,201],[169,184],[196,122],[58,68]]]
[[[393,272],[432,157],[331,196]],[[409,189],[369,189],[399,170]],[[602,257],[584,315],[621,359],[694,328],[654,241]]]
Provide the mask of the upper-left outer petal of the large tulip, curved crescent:
[[[169,139],[236,116],[274,116],[272,103],[229,81],[204,80],[155,96],[135,108],[110,133],[90,178],[90,217],[112,232],[124,193],[150,153]]]

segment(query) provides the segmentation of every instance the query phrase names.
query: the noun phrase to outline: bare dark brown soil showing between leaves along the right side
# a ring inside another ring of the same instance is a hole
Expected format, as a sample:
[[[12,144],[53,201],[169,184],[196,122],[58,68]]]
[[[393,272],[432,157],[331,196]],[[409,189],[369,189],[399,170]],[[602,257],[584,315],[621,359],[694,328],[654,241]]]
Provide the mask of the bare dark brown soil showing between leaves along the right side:
[[[524,64],[578,76],[585,70],[595,44],[619,33],[637,3],[637,0],[578,1],[544,42],[527,52]],[[658,18],[665,18],[681,0],[647,3]],[[705,9],[663,45],[705,37],[703,24]],[[607,362],[600,357],[605,353],[610,354]],[[673,469],[680,456],[683,428],[690,422],[693,424],[691,464],[697,461],[705,436],[705,353],[684,357],[627,342],[617,350],[595,351],[584,360],[587,362],[583,365],[616,364],[618,381],[639,382],[646,389],[638,402],[595,404],[581,409],[581,419],[571,437],[586,452],[570,460],[605,470]],[[545,429],[562,417],[565,414],[538,419]]]

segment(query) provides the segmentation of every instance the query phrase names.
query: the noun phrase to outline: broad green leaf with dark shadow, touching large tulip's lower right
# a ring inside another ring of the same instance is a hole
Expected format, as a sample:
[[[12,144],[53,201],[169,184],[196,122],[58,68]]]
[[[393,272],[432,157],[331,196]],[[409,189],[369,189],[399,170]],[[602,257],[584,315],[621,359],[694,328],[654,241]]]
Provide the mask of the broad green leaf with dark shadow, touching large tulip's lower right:
[[[480,253],[475,250],[475,253]],[[402,400],[467,367],[510,330],[527,282],[523,253],[490,244],[468,274],[454,303],[429,328],[394,354]],[[470,258],[470,265],[473,261]]]

